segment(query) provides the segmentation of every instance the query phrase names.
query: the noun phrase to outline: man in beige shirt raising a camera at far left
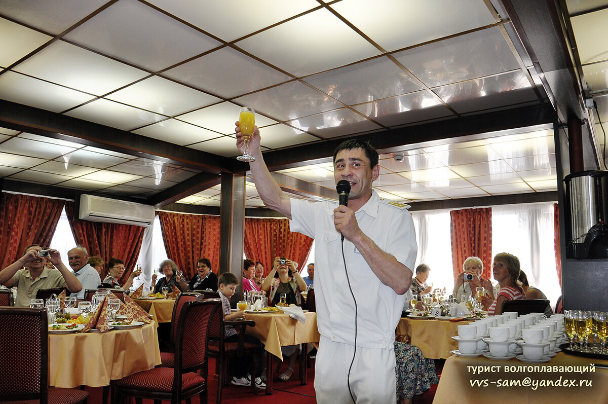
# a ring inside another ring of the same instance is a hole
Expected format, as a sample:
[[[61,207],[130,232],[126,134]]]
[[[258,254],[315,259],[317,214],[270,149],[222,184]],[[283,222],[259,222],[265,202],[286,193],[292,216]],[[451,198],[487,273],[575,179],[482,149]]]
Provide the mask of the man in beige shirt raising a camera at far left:
[[[48,255],[41,256],[39,251],[48,251]],[[47,260],[57,269],[47,268]],[[75,293],[82,288],[74,274],[61,262],[59,251],[43,250],[39,245],[28,246],[21,258],[0,271],[0,284],[17,288],[15,305],[18,307],[29,307],[30,300],[36,298],[39,289],[65,287]]]

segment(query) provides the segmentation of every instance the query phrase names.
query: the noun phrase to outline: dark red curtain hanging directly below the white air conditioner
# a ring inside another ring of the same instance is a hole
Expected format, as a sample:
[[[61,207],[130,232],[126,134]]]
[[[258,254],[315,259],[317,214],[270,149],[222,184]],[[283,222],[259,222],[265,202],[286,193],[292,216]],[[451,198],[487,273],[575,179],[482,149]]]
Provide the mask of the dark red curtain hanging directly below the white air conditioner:
[[[67,220],[77,245],[84,246],[89,256],[100,256],[105,262],[118,258],[125,262],[125,273],[119,282],[129,277],[142,248],[143,227],[77,220],[74,218],[74,202],[66,203]],[[103,280],[103,278],[102,278]]]

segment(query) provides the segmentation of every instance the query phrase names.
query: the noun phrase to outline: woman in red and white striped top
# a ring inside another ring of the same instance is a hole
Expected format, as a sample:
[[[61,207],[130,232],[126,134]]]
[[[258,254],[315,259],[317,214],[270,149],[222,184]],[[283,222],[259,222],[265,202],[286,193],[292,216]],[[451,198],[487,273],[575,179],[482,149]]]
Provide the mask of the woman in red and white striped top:
[[[485,299],[485,307],[488,307],[488,315],[500,314],[502,302],[505,300],[524,299],[521,283],[517,280],[519,276],[519,259],[506,252],[496,254],[492,265],[492,274],[499,283],[500,290],[496,295],[496,300]],[[491,304],[490,304],[491,303]]]

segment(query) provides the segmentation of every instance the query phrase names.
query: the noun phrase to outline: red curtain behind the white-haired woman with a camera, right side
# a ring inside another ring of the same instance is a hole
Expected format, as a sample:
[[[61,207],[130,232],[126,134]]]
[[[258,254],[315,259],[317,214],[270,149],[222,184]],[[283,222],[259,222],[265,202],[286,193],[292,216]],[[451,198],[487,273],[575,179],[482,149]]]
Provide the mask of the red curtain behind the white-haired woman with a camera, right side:
[[[492,279],[492,208],[451,211],[450,220],[454,280],[471,256],[482,260],[482,277]]]

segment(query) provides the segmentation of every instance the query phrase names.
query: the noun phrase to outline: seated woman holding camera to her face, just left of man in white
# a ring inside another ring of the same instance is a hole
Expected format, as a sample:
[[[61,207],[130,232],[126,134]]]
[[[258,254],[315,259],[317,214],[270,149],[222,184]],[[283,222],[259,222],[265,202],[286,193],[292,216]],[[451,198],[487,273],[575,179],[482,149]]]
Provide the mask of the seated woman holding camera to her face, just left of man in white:
[[[268,294],[268,301],[272,306],[276,306],[281,300],[281,294],[285,294],[286,304],[302,304],[302,292],[306,290],[306,282],[296,270],[296,263],[292,260],[285,259],[285,263],[281,263],[282,258],[275,257],[272,265],[272,270],[264,279],[262,290]],[[312,349],[312,347],[311,347]],[[283,357],[288,358],[287,369],[279,375],[283,381],[289,380],[294,372],[295,360],[300,353],[299,345],[284,346],[281,348]],[[281,370],[281,363],[277,365],[277,373]]]

